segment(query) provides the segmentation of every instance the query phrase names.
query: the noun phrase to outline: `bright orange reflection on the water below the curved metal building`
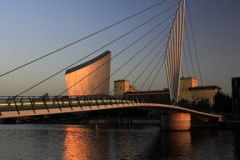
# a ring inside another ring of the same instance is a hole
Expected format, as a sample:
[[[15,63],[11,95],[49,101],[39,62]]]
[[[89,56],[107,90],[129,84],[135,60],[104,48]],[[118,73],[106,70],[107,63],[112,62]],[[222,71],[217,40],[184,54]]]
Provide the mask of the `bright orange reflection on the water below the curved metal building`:
[[[67,126],[64,141],[64,160],[106,159],[104,138],[91,128],[72,128]]]

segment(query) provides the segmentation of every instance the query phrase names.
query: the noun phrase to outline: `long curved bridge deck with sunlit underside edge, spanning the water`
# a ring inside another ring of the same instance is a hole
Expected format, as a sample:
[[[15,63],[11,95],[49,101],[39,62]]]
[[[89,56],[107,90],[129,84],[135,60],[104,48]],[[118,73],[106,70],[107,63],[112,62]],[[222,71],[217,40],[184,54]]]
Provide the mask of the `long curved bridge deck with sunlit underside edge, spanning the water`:
[[[0,119],[14,118],[23,116],[37,116],[47,114],[83,112],[113,108],[154,108],[169,112],[185,112],[208,116],[212,118],[224,118],[220,115],[204,113],[179,106],[157,104],[157,103],[136,103],[127,100],[52,100],[52,101],[29,101],[29,102],[1,102],[0,103]]]

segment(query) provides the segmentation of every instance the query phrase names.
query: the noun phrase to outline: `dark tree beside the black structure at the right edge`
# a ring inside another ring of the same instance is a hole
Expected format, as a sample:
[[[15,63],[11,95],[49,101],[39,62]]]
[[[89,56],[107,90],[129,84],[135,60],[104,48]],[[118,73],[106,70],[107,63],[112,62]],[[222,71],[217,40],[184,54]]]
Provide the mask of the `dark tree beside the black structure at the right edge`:
[[[228,94],[218,92],[213,97],[213,100],[213,110],[228,114],[232,113],[232,100]]]

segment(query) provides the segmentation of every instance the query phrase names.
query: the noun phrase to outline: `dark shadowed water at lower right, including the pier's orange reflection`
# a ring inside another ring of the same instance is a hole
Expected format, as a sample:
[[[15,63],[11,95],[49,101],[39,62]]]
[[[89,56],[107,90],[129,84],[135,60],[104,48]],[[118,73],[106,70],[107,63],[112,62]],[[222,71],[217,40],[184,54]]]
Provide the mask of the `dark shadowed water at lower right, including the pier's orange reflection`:
[[[139,159],[239,159],[240,130],[159,131]]]

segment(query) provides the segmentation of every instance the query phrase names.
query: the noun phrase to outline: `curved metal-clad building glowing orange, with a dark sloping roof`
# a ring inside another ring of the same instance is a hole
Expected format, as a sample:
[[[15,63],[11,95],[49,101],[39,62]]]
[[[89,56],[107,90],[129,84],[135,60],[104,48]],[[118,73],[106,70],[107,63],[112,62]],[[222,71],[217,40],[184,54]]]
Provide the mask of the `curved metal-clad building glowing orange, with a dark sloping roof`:
[[[108,79],[101,86],[95,89],[90,95],[94,94],[108,95],[110,85],[109,79],[110,66],[111,66],[111,52],[105,51],[101,55],[95,57],[94,59],[91,59],[88,62],[68,69],[65,74],[67,88],[69,88],[68,95],[69,96],[88,95],[96,87],[103,83],[107,78]],[[94,70],[96,71],[93,72]]]

